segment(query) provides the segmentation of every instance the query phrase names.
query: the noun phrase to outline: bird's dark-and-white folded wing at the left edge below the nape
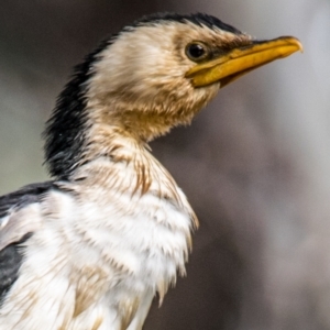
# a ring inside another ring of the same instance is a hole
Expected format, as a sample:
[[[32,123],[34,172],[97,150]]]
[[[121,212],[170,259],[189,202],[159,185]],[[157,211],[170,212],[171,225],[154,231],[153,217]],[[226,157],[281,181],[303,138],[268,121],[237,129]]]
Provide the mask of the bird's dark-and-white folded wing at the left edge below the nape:
[[[53,182],[33,184],[0,197],[0,305],[18,278],[24,242],[40,226],[40,202]]]

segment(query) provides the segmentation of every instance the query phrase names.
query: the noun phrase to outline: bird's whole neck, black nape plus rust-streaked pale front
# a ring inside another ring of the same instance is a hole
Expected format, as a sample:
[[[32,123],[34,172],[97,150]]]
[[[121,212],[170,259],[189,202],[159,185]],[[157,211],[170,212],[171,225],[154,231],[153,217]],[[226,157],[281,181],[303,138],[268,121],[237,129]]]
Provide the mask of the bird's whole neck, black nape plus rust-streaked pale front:
[[[187,211],[193,226],[197,227],[197,218],[185,196],[169,173],[148,152],[143,139],[133,134],[120,118],[111,116],[110,107],[88,106],[90,108],[85,107],[80,116],[74,117],[75,111],[64,114],[58,111],[53,116],[46,131],[52,133],[46,145],[52,174],[57,179],[74,184],[70,188],[75,185],[84,187],[88,199],[102,196],[105,204],[117,200],[119,196],[131,200],[151,195],[167,200]],[[74,132],[76,135],[73,135]],[[52,141],[54,144],[51,144]],[[65,152],[56,153],[56,147]],[[81,191],[79,187],[77,189]]]

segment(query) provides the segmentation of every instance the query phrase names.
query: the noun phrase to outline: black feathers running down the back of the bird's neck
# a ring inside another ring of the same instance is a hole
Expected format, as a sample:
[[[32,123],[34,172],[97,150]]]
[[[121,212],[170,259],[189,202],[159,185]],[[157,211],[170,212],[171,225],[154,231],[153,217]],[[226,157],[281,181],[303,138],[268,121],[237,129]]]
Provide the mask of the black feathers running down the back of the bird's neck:
[[[74,68],[72,80],[59,94],[55,110],[46,123],[43,133],[46,139],[45,162],[53,177],[67,179],[81,156],[87,129],[87,81],[94,75],[92,64],[110,43],[111,40],[103,41]]]

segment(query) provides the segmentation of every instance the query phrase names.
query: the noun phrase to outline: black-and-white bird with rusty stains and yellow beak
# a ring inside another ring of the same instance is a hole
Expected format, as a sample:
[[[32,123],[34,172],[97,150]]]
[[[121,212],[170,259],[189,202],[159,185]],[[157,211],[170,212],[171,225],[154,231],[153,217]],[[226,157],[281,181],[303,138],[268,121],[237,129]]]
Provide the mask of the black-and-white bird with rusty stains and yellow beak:
[[[293,36],[260,41],[205,13],[166,12],[87,55],[43,133],[51,179],[0,198],[0,329],[141,330],[153,299],[186,275],[198,228],[148,143],[297,51]]]

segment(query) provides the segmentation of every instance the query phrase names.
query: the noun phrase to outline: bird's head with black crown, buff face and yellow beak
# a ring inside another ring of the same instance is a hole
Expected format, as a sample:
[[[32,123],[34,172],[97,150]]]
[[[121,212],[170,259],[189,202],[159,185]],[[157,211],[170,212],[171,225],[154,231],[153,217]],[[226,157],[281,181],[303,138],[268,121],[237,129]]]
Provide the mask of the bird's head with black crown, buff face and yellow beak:
[[[206,14],[145,16],[77,67],[46,131],[47,158],[58,157],[56,145],[67,134],[77,145],[88,140],[86,130],[77,136],[81,127],[116,127],[138,141],[151,141],[189,123],[219,88],[298,50],[294,37],[254,41]],[[62,138],[54,135],[58,130]]]

